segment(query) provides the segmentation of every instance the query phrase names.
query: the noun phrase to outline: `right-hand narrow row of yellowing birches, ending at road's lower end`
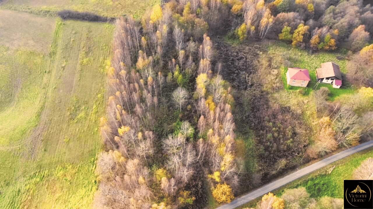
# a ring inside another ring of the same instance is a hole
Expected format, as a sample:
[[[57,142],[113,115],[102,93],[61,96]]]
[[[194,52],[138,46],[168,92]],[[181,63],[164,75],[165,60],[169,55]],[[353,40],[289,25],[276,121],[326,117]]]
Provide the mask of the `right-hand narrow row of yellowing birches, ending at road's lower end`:
[[[198,156],[201,162],[209,165],[209,177],[216,186],[213,196],[219,202],[229,202],[231,194],[222,194],[224,187],[228,190],[238,189],[239,168],[235,161],[235,124],[231,112],[232,96],[230,88],[224,86],[221,75],[212,75],[212,42],[204,36],[201,47],[201,61],[196,78],[197,111],[199,135],[204,136],[198,141]],[[217,72],[220,66],[217,66]],[[228,183],[228,184],[226,184]]]

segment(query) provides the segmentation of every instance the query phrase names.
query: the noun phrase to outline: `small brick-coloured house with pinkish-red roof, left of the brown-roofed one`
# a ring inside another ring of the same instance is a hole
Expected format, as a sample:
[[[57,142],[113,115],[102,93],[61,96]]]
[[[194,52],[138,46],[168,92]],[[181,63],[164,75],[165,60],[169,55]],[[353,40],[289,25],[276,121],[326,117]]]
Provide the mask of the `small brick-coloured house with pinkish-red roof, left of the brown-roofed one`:
[[[288,72],[286,73],[288,85],[306,87],[310,80],[310,73],[308,73],[307,69],[288,68]]]

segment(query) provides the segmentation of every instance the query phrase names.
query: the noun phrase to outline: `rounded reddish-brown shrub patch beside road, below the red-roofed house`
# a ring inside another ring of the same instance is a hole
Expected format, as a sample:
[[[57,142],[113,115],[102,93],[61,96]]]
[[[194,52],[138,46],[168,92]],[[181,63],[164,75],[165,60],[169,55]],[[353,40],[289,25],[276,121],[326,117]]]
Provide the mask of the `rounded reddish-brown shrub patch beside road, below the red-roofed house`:
[[[263,179],[268,180],[279,171],[302,163],[308,135],[300,115],[289,107],[271,106],[261,120],[257,143]]]

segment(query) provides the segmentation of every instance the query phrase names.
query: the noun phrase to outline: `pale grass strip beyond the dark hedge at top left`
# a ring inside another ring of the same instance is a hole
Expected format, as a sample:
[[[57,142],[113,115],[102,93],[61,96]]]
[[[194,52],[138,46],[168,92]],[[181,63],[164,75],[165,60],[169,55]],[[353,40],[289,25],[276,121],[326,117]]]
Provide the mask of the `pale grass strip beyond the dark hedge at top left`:
[[[125,14],[141,17],[146,9],[159,3],[160,0],[9,0],[1,7],[44,16],[55,16],[57,11],[69,9],[106,17]]]

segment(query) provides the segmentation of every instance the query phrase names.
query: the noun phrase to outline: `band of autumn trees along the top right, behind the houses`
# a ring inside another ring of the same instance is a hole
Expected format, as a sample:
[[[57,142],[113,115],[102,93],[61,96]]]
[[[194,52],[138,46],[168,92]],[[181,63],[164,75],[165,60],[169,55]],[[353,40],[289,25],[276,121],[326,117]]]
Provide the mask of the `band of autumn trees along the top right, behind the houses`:
[[[373,7],[361,0],[236,0],[226,4],[232,18],[243,23],[235,33],[247,38],[279,38],[294,46],[308,46],[314,51],[344,47],[352,51],[363,48],[373,32]]]

